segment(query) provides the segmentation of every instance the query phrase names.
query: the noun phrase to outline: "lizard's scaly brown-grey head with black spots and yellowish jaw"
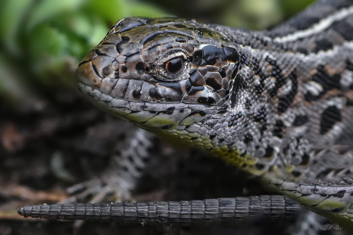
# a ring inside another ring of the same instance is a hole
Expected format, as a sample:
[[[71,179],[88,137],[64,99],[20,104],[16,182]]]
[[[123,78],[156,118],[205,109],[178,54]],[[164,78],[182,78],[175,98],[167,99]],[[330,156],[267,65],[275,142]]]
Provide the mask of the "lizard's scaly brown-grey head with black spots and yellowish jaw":
[[[83,58],[77,80],[104,111],[207,149],[234,137],[221,129],[231,130],[242,116],[244,104],[231,98],[240,69],[227,38],[201,24],[124,18]],[[215,136],[219,143],[211,144]]]

